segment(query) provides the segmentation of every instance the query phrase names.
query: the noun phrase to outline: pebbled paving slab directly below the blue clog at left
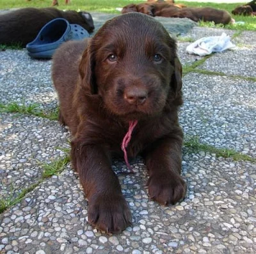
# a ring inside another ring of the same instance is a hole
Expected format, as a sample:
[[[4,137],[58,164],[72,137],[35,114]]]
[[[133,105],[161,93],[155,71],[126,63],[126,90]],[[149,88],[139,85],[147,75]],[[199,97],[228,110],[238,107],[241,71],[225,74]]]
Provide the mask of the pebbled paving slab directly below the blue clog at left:
[[[45,109],[58,105],[51,61],[32,59],[26,49],[2,51],[0,56],[0,103],[38,103]]]

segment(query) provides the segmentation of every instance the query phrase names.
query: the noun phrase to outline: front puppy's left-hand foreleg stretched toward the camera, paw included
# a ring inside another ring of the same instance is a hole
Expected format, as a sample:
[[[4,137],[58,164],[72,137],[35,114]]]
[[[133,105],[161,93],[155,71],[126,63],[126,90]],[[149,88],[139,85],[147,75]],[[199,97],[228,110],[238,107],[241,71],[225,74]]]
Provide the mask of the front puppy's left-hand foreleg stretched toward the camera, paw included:
[[[131,224],[131,212],[122,195],[118,178],[102,146],[72,142],[72,162],[88,198],[88,220],[108,233],[119,233]]]

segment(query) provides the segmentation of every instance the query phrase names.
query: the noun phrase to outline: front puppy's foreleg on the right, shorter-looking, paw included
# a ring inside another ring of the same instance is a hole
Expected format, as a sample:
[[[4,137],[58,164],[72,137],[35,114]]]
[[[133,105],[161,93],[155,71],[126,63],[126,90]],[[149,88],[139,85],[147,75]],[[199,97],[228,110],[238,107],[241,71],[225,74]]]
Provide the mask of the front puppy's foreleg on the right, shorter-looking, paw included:
[[[180,176],[182,132],[163,138],[144,155],[149,172],[148,194],[160,204],[175,204],[186,194]]]

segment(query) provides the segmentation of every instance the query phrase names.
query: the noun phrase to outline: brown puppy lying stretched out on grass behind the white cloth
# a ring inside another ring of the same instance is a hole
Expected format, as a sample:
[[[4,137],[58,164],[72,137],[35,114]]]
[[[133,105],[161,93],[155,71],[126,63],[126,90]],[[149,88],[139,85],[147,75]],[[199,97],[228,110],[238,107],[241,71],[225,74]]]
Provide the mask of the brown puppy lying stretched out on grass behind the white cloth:
[[[168,8],[155,11],[154,15],[161,17],[188,18],[195,22],[198,20],[209,22],[213,21],[215,24],[229,24],[230,22],[233,22],[232,17],[228,11],[218,10],[211,7],[176,8],[175,6],[169,6]]]

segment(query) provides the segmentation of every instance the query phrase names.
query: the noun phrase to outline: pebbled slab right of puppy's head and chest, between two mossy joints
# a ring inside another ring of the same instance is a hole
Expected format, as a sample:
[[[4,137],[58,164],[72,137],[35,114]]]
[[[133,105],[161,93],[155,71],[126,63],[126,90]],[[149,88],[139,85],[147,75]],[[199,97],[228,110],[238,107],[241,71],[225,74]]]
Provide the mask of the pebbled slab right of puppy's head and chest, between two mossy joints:
[[[256,156],[255,82],[189,73],[183,78],[183,93],[180,123],[186,135]]]

